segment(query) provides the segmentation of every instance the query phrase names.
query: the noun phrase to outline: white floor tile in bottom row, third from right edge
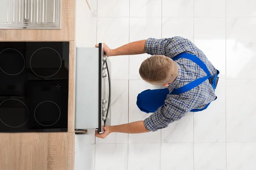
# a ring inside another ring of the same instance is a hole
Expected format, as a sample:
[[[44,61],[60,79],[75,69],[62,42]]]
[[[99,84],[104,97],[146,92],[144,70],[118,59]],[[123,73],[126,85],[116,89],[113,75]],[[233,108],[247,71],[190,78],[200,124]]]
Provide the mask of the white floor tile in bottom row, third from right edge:
[[[162,144],[161,170],[194,170],[193,143]]]

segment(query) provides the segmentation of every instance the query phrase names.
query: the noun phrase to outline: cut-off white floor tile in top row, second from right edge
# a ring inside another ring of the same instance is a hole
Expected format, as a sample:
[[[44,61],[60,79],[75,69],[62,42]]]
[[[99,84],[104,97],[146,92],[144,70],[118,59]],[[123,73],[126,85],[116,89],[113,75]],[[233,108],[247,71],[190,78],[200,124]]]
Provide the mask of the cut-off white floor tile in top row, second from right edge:
[[[194,0],[195,17],[225,17],[225,0]]]

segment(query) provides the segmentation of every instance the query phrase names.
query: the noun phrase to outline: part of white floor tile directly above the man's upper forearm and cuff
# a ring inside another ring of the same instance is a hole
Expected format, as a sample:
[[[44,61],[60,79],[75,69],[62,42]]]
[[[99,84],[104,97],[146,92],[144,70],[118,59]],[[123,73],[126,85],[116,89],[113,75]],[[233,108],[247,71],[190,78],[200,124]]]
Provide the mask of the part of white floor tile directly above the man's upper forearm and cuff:
[[[161,18],[130,18],[130,42],[161,38]]]

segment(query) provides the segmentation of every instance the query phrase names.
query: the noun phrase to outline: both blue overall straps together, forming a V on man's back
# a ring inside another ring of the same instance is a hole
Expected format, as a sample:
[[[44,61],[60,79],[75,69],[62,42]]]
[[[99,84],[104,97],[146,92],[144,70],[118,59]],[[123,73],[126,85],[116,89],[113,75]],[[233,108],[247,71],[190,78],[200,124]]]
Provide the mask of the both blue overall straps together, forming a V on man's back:
[[[196,57],[195,55],[189,54],[189,53],[182,53],[177,55],[176,57],[172,58],[174,61],[180,58],[186,58],[191,60],[192,62],[195,62],[199,67],[201,67],[204,72],[207,74],[206,77],[201,77],[199,79],[194,80],[193,82],[190,82],[180,88],[175,88],[173,91],[171,91],[169,94],[182,94],[185,93],[186,91],[191,90],[192,88],[195,88],[196,86],[200,85],[204,81],[206,81],[209,76],[211,75],[207,66],[204,64],[204,62]]]

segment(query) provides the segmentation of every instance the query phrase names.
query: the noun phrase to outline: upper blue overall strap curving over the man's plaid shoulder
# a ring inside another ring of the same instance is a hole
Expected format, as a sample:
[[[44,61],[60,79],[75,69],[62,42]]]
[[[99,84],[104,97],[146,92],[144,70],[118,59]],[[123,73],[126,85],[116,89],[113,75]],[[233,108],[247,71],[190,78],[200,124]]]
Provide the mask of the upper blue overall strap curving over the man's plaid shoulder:
[[[186,59],[191,60],[192,62],[195,62],[199,67],[201,67],[204,70],[204,72],[207,74],[207,76],[211,75],[207,66],[204,64],[204,62],[201,59],[199,59],[198,57],[196,57],[195,55],[189,54],[189,53],[181,53],[181,54],[177,55],[176,57],[173,57],[172,59],[175,61],[180,58],[186,58]]]

